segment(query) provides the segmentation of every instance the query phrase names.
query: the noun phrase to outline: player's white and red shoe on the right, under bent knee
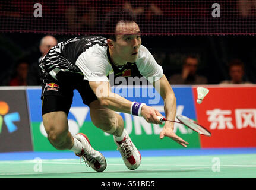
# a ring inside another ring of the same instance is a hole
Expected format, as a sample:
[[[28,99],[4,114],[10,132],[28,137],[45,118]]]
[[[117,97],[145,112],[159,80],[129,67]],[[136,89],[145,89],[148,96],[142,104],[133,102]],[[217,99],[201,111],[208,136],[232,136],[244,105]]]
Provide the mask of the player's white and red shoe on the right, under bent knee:
[[[125,129],[124,129],[125,130]],[[122,159],[124,160],[125,166],[128,167],[130,170],[137,169],[141,163],[141,154],[132,143],[131,138],[125,131],[126,135],[124,140],[122,141],[115,141],[116,145],[118,146],[119,152],[122,155]]]

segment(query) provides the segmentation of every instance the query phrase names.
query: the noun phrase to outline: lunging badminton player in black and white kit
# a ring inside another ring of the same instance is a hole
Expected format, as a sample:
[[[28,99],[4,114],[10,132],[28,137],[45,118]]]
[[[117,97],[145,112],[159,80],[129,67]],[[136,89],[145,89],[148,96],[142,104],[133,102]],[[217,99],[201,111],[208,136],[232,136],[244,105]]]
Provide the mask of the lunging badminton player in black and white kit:
[[[108,26],[108,20],[110,21]],[[160,84],[159,93],[164,100],[165,116],[174,120],[176,99],[162,67],[151,53],[141,45],[140,28],[129,12],[113,12],[106,19],[108,37],[80,36],[58,43],[42,59],[42,118],[48,140],[58,150],[71,150],[97,172],[106,169],[105,157],[94,150],[85,134],[72,137],[68,131],[68,113],[76,89],[83,103],[90,107],[93,124],[113,135],[113,140],[128,169],[134,170],[141,163],[141,154],[132,143],[124,121],[116,112],[142,116],[147,122],[160,124],[162,116],[153,107],[140,102],[130,102],[112,93],[108,75],[124,73],[131,69],[131,76],[141,75],[151,83]],[[173,123],[166,122],[160,138],[170,137],[184,147],[188,144],[173,132]]]

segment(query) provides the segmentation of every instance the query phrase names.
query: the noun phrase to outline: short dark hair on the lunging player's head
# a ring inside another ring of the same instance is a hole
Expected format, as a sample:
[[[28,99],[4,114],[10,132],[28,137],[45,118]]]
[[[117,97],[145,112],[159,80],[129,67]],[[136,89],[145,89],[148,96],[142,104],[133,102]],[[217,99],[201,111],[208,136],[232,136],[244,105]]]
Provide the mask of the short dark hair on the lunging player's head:
[[[120,22],[124,23],[136,23],[135,15],[130,11],[115,9],[106,15],[105,22],[103,24],[103,36],[107,39],[116,40],[116,25]]]

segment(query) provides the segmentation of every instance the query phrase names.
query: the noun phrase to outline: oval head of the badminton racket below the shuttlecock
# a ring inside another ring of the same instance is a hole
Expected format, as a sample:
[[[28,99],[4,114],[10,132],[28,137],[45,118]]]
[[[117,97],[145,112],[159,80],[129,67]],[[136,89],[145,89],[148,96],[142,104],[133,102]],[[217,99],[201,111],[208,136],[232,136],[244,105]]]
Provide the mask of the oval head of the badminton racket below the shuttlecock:
[[[177,115],[176,118],[179,120],[179,122],[181,122],[181,124],[186,125],[188,128],[192,129],[195,132],[198,132],[200,135],[206,135],[208,137],[211,137],[211,132],[194,120],[184,115]]]

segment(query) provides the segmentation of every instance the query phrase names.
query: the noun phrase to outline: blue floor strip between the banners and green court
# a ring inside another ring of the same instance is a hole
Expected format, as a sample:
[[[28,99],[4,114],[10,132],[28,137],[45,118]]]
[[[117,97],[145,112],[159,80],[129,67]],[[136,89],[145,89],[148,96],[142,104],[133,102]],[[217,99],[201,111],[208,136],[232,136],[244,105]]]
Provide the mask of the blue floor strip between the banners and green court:
[[[100,151],[106,158],[121,157],[119,151]],[[200,156],[222,154],[256,154],[255,148],[184,148],[168,150],[140,150],[142,157],[153,156]],[[74,153],[69,151],[58,152],[11,152],[0,153],[0,160],[33,160],[40,159],[77,159]]]

